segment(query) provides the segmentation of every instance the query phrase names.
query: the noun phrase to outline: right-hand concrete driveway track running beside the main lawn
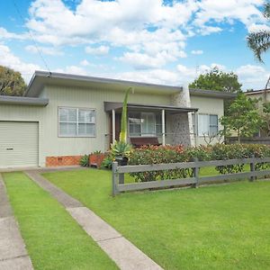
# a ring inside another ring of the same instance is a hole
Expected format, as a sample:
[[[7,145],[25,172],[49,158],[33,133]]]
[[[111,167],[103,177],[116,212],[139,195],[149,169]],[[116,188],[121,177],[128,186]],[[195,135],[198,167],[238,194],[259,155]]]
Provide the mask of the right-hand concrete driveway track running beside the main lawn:
[[[25,171],[25,174],[62,203],[76,222],[85,229],[85,232],[112,258],[120,269],[162,269],[138,247],[135,247],[117,230],[97,216],[94,211],[84,207],[81,202],[76,201],[57,186],[51,184],[38,171]]]

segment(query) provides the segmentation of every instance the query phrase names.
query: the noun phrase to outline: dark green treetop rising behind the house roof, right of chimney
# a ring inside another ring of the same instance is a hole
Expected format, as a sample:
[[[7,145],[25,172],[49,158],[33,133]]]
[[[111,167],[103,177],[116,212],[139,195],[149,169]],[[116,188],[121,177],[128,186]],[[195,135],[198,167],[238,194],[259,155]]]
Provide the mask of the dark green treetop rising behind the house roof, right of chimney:
[[[224,92],[238,92],[241,90],[238,76],[233,72],[223,72],[218,67],[214,67],[210,72],[201,74],[189,85],[189,88],[216,90]]]

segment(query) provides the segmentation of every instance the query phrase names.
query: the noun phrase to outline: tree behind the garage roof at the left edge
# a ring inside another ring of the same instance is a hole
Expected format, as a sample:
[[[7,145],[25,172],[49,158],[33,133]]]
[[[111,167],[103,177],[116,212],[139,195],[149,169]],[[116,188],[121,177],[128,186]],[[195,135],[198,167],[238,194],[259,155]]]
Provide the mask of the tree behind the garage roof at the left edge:
[[[23,95],[26,85],[20,72],[0,66],[0,95]]]

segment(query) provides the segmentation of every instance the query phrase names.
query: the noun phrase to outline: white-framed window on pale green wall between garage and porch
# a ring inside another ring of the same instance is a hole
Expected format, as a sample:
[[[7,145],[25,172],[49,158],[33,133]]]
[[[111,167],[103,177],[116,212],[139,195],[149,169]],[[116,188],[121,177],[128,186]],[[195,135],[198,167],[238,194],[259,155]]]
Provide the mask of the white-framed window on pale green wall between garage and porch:
[[[60,137],[94,137],[93,109],[58,108],[58,135]]]

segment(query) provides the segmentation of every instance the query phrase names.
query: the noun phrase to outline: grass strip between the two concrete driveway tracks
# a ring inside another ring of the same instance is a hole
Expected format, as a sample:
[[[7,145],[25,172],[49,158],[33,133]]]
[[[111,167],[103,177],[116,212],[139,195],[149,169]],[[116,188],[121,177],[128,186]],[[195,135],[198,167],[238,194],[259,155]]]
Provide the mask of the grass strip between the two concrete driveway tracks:
[[[4,174],[4,183],[35,269],[117,269],[67,211],[26,175]]]

